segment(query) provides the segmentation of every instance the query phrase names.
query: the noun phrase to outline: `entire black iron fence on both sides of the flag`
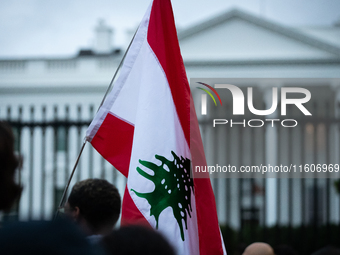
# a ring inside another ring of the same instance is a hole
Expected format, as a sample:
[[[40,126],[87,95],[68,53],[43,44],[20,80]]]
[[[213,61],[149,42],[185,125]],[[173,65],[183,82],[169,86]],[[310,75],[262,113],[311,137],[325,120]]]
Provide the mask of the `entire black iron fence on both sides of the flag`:
[[[17,176],[24,186],[22,198],[3,220],[51,219],[94,107],[1,111],[14,130],[16,151],[24,159]],[[201,122],[208,164],[339,164],[340,120],[334,116],[297,119],[295,128],[213,129]],[[88,145],[71,186],[90,177],[105,178],[124,191],[125,178]],[[308,254],[340,240],[339,179],[212,179],[212,184],[229,254],[253,241],[291,244],[300,254]]]

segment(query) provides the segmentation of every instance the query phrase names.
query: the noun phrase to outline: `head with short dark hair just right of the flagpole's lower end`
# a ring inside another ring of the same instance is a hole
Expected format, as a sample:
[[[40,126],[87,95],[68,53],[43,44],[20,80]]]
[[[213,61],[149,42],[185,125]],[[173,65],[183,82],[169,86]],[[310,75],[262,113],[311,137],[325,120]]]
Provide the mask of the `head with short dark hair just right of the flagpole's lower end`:
[[[65,212],[89,235],[110,233],[121,208],[117,188],[106,180],[87,179],[76,183]]]

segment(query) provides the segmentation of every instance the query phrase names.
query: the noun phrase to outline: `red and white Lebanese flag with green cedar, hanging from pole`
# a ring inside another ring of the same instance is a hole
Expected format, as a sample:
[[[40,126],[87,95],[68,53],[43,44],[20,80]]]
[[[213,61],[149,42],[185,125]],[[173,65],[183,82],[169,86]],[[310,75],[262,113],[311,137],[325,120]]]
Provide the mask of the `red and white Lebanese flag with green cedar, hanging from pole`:
[[[226,254],[210,179],[190,178],[206,161],[169,0],[149,6],[87,139],[127,177],[122,224],[158,229],[178,254]]]

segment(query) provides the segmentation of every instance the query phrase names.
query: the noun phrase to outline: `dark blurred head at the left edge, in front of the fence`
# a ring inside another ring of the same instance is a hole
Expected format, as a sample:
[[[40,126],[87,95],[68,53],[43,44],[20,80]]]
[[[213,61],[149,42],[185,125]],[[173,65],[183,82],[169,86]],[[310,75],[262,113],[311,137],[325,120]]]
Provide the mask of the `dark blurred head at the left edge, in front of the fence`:
[[[8,211],[20,197],[21,187],[14,181],[19,161],[14,154],[14,136],[11,128],[0,121],[0,211]]]

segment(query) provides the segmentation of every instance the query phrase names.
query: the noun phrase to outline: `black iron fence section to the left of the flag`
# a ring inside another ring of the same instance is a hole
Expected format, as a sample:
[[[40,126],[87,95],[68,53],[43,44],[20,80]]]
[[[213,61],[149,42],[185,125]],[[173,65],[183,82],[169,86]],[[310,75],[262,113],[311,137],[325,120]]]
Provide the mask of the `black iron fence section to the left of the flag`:
[[[87,120],[84,120],[82,106],[73,109],[69,106],[62,109],[18,107],[16,110],[7,108],[3,119],[11,125],[16,137],[15,150],[23,158],[17,180],[24,190],[18,205],[3,220],[51,219],[94,115],[94,107],[86,109]],[[93,177],[105,178],[121,190],[125,184],[119,172],[88,145],[71,187],[79,180]]]

